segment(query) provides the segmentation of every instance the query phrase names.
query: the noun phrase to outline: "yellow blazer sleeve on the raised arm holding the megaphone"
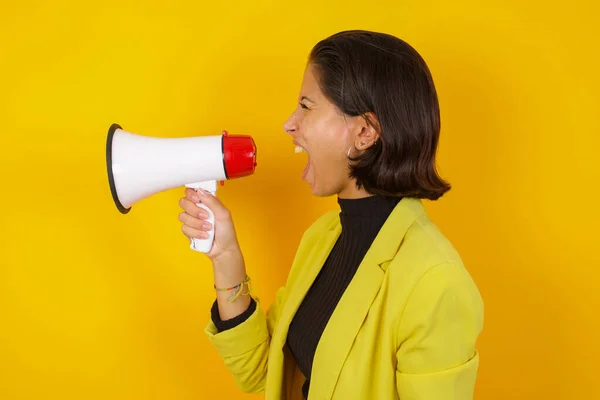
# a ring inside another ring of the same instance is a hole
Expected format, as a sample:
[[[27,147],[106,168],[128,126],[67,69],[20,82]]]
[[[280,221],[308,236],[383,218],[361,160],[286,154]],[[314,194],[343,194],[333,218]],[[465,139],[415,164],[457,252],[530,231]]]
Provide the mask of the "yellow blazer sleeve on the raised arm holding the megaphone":
[[[219,332],[214,322],[205,328],[210,342],[222,357],[236,385],[246,393],[265,390],[271,335],[279,314],[285,287],[277,290],[275,301],[265,313],[256,301],[254,312],[239,325]]]

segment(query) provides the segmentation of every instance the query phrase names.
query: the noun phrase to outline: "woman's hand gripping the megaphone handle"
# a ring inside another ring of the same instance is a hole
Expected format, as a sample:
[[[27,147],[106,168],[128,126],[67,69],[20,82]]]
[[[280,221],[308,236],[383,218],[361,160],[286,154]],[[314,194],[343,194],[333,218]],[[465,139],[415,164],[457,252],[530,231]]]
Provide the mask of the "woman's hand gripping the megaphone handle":
[[[206,221],[208,213],[196,203],[204,203],[215,217],[214,241],[212,248],[206,253],[207,257],[214,262],[223,256],[240,253],[231,212],[216,196],[202,189],[196,192],[194,189],[186,188],[185,197],[179,201],[179,206],[184,210],[179,214],[179,221],[183,223],[181,227],[183,234],[190,240],[206,239],[207,231],[212,228]]]

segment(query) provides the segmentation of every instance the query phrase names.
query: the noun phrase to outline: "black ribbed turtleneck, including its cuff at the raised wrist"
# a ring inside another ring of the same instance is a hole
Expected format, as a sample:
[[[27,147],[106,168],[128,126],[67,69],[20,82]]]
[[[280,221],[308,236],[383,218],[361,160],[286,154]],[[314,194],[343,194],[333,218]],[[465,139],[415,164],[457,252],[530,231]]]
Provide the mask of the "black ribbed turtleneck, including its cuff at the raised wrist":
[[[300,371],[307,378],[302,387],[305,398],[308,397],[315,350],[327,321],[381,226],[399,201],[400,198],[382,196],[360,199],[338,198],[342,232],[300,304],[290,324],[287,337],[287,345]],[[223,331],[245,321],[255,309],[256,302],[252,300],[246,312],[231,320],[221,321],[215,301],[212,307],[212,319],[217,329]]]

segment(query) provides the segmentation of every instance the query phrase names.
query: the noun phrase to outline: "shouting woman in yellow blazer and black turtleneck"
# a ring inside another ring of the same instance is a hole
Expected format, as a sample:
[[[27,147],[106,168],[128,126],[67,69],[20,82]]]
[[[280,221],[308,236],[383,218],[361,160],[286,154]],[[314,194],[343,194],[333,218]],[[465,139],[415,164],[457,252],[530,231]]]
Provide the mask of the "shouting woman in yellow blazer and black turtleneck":
[[[312,50],[298,100],[284,129],[308,153],[302,177],[340,209],[306,230],[265,315],[230,213],[187,189],[186,236],[210,228],[195,203],[215,214],[209,339],[237,385],[268,400],[472,399],[483,304],[422,205],[450,188],[425,62],[396,37],[341,32]]]

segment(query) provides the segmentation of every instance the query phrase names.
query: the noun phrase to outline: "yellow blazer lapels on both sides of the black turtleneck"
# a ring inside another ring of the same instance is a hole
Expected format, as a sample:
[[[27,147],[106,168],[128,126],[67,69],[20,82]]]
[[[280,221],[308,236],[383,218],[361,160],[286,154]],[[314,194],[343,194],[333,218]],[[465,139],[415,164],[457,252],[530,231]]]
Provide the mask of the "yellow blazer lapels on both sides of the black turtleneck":
[[[316,394],[317,398],[331,398],[352,343],[379,292],[388,261],[392,260],[397,253],[408,227],[423,214],[424,209],[420,200],[411,198],[401,200],[367,251],[317,346],[310,385],[310,393]],[[311,268],[302,282],[301,290],[295,291],[293,305],[288,312],[295,312],[297,309],[329,250],[331,248],[327,245],[318,252],[318,256],[315,257],[318,267]]]

